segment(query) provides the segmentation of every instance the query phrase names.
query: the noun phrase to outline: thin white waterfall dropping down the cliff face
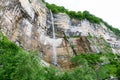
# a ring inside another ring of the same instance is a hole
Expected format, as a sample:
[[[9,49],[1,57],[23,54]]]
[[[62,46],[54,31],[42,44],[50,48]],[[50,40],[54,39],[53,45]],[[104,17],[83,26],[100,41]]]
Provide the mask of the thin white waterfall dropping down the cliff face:
[[[51,25],[53,30],[53,41],[54,41],[53,42],[53,64],[57,66],[58,64],[57,64],[57,52],[56,52],[56,45],[55,45],[55,27],[54,27],[54,18],[51,10],[50,10],[50,15],[51,15]]]

